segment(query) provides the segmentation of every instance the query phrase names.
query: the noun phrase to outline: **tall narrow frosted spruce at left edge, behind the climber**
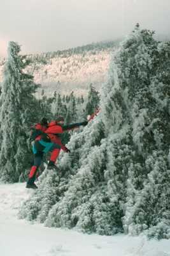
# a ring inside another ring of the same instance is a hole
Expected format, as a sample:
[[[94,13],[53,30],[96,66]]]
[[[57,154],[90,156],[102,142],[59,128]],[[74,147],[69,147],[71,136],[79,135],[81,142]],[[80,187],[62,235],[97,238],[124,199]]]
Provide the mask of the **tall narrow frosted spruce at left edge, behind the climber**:
[[[38,86],[34,84],[32,76],[24,73],[29,63],[19,52],[20,46],[10,42],[0,109],[0,179],[3,182],[17,182],[25,169],[29,168],[31,156],[27,139],[31,124],[37,118],[38,102],[33,93]]]

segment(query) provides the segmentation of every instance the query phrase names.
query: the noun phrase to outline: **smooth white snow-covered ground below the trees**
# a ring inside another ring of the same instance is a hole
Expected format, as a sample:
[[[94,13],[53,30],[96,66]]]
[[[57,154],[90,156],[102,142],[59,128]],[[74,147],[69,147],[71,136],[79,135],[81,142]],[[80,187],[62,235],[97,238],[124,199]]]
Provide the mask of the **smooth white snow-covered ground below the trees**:
[[[170,256],[170,240],[87,235],[18,220],[31,193],[25,184],[0,184],[1,256]]]

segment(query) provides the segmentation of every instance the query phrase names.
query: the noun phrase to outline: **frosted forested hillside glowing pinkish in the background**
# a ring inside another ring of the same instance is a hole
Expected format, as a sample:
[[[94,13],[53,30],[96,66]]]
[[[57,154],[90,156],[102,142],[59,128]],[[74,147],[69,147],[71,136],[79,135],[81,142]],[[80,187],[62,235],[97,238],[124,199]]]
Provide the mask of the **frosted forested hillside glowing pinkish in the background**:
[[[51,96],[57,91],[62,94],[87,94],[90,83],[97,90],[106,81],[106,72],[111,52],[118,41],[76,47],[66,51],[45,52],[29,55],[31,60],[27,72],[34,76],[35,83],[42,85],[45,94]],[[0,83],[2,81],[4,60],[0,61]],[[42,89],[38,90],[37,95]]]

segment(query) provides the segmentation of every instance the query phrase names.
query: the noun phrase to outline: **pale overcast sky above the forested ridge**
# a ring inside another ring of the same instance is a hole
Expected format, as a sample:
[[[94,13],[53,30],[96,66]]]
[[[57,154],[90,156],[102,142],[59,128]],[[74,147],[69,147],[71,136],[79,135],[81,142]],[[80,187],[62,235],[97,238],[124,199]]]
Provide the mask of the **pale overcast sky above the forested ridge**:
[[[170,34],[170,0],[0,0],[0,54],[67,49],[141,28]]]

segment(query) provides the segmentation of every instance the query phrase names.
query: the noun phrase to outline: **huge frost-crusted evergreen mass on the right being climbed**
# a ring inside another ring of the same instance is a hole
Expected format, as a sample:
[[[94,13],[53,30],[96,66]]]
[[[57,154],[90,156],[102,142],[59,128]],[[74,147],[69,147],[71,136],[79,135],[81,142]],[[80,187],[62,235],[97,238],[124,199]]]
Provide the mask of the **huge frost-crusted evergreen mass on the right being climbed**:
[[[113,56],[101,112],[71,137],[60,172],[53,179],[43,173],[20,217],[83,232],[169,237],[169,74],[169,42],[136,26]]]

